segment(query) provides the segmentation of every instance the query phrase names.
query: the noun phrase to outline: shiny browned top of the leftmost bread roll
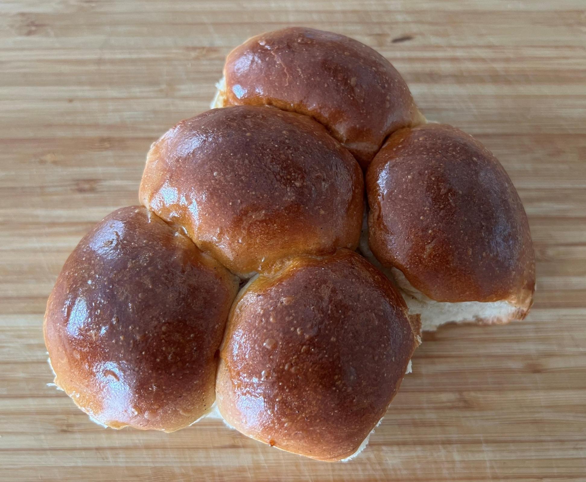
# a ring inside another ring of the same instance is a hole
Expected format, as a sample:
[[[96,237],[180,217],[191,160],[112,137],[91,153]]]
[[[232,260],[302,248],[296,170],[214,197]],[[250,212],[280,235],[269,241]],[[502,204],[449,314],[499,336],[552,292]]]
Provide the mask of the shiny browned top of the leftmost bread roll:
[[[80,241],[47,303],[56,384],[113,428],[172,432],[214,401],[237,278],[144,207],[114,211]]]

